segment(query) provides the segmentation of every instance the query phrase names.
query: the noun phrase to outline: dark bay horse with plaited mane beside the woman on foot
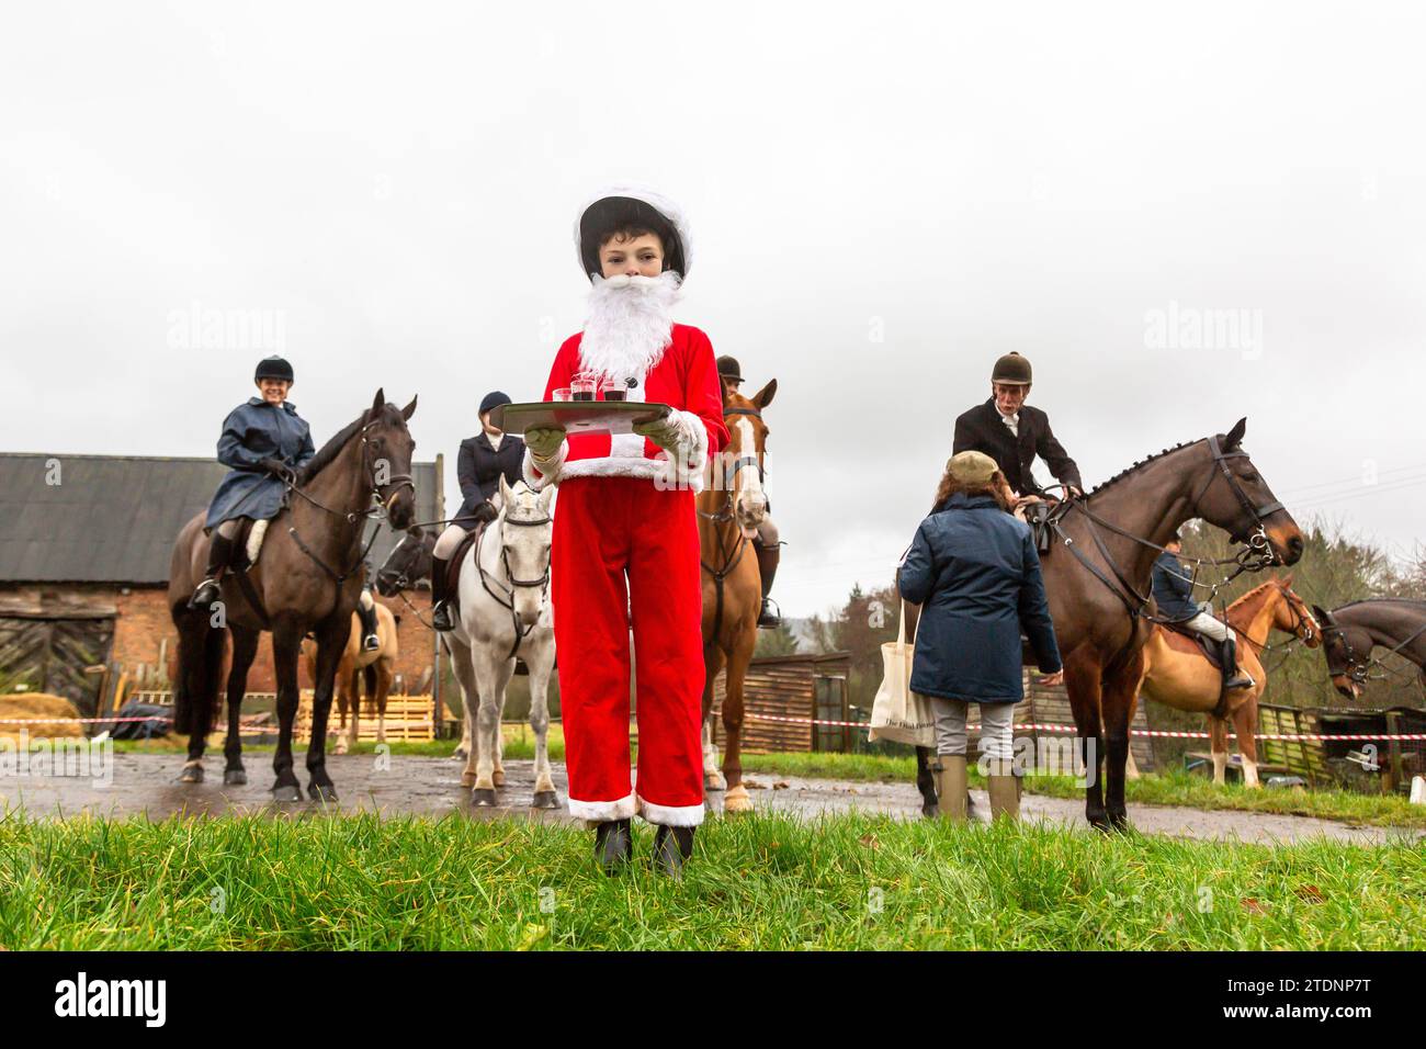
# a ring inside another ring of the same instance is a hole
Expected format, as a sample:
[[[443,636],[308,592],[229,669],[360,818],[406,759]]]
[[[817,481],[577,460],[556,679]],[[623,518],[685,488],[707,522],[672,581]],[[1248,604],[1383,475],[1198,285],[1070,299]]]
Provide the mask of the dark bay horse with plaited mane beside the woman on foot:
[[[1129,825],[1129,716],[1152,625],[1154,559],[1164,544],[1201,518],[1248,544],[1245,568],[1292,565],[1302,557],[1302,531],[1242,448],[1246,428],[1242,418],[1226,434],[1165,448],[1058,504],[1050,520],[1055,548],[1042,558],[1045,591],[1084,758],[1091,826]],[[906,601],[901,607],[910,637],[920,612]],[[935,788],[928,758],[928,748],[917,748],[917,786],[930,814]]]

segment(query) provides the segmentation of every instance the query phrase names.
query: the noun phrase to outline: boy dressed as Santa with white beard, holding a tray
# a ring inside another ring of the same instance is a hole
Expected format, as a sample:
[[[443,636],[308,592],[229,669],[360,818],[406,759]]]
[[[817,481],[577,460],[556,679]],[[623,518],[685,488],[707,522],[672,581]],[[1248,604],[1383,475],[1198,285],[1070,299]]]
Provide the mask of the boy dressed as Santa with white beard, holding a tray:
[[[659,829],[655,865],[677,873],[703,822],[702,581],[694,495],[723,448],[723,395],[709,337],[674,324],[689,271],[683,213],[656,193],[600,194],[575,228],[593,287],[585,330],[555,355],[545,400],[576,378],[596,397],[672,407],[633,434],[525,434],[525,480],[559,485],[550,598],[569,771],[569,811],[596,828],[610,873],[633,852],[630,818]],[[629,628],[639,718],[629,778]]]

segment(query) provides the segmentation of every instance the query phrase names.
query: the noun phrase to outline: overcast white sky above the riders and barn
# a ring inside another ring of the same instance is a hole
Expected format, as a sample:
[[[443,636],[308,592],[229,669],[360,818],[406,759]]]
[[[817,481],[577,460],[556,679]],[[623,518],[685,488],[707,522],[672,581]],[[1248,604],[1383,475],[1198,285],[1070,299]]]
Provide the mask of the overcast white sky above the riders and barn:
[[[784,612],[890,579],[1012,348],[1089,484],[1246,414],[1299,521],[1409,554],[1423,16],[1145,9],[11,4],[0,450],[212,454],[270,348],[183,318],[261,311],[318,442],[421,394],[453,510],[481,397],[580,324],[575,208],[632,178],[692,216],[682,320],[779,380]]]

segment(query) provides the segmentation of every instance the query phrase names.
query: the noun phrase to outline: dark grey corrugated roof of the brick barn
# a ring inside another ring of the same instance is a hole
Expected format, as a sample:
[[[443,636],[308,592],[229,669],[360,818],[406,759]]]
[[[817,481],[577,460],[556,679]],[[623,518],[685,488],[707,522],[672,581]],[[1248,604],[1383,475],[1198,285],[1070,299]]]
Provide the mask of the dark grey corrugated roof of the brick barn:
[[[174,537],[225,472],[200,458],[0,452],[0,582],[164,584]],[[441,517],[436,464],[411,472],[416,520]],[[395,542],[382,525],[372,564]]]

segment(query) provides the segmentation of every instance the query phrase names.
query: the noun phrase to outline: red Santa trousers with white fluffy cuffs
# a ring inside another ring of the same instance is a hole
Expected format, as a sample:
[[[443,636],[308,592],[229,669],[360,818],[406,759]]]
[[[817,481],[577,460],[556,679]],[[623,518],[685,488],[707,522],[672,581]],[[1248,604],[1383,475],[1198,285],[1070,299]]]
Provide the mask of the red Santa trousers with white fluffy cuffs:
[[[637,477],[559,487],[550,598],[570,815],[703,822],[703,591],[694,494]],[[629,784],[633,621],[637,789]]]

